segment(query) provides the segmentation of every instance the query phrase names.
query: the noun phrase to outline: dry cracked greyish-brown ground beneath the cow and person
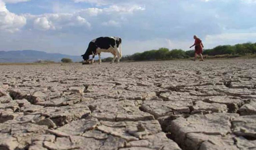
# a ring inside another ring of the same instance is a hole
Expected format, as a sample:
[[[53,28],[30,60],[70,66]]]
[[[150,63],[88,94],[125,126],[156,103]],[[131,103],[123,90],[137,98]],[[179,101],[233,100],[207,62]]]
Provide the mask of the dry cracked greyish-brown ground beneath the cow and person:
[[[256,60],[0,66],[0,149],[256,149]]]

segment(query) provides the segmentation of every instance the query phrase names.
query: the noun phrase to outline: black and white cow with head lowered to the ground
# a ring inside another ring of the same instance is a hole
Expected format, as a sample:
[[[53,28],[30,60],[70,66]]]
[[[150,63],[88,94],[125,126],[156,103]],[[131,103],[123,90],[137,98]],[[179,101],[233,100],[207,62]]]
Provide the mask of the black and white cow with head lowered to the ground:
[[[93,39],[86,50],[86,52],[81,55],[84,61],[89,60],[89,56],[92,55],[92,62],[94,62],[94,56],[99,55],[99,63],[101,63],[100,53],[110,52],[114,55],[111,63],[113,63],[117,57],[117,62],[119,62],[122,57],[121,50],[122,39],[120,37],[98,37]]]

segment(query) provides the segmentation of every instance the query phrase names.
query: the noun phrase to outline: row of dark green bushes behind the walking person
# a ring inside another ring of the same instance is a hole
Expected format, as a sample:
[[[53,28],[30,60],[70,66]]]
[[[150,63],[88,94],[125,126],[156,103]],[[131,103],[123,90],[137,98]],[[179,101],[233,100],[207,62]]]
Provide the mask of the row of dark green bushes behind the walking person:
[[[212,49],[205,49],[203,55],[205,58],[234,58],[245,55],[256,57],[256,43],[243,43],[236,45],[220,45]],[[148,50],[142,53],[123,56],[120,61],[143,61],[143,60],[172,60],[194,57],[194,50],[184,51],[182,49],[159,48],[158,50]],[[102,61],[111,61],[112,57],[102,59]]]

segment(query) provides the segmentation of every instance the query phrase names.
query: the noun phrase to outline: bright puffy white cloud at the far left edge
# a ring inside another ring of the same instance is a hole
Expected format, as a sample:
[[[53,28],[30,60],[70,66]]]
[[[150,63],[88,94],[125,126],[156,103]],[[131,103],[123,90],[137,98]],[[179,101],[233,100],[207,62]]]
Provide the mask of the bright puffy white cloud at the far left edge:
[[[0,0],[0,31],[14,33],[26,24],[26,18],[9,12]]]

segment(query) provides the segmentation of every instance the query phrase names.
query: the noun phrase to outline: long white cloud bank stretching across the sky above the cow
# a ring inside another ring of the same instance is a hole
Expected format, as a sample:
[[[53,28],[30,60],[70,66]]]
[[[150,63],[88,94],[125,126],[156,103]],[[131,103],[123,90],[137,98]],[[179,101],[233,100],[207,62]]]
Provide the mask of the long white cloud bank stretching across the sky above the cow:
[[[85,27],[87,29],[90,29],[92,27],[92,24],[87,20],[87,18],[97,16],[97,18],[103,18],[103,19],[95,20],[96,18],[93,18],[94,24],[95,23],[99,24],[99,21],[101,21],[100,24],[103,26],[120,27],[121,26],[120,22],[117,22],[110,18],[111,16],[113,16],[113,14],[115,15],[115,17],[120,16],[118,18],[124,21],[126,19],[122,15],[133,14],[134,11],[140,11],[140,10],[145,10],[145,9],[137,5],[132,5],[129,7],[113,5],[113,6],[102,8],[102,9],[100,8],[82,9],[74,13],[55,13],[55,14],[53,13],[53,14],[42,14],[42,15],[26,14],[25,17],[29,21],[32,20],[33,27],[34,29],[37,29],[37,30],[43,30],[43,31],[61,30],[69,26],[73,26],[73,27],[79,26],[79,27]],[[104,15],[104,17],[103,16],[99,17],[99,15]]]

